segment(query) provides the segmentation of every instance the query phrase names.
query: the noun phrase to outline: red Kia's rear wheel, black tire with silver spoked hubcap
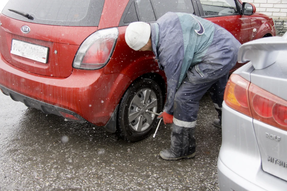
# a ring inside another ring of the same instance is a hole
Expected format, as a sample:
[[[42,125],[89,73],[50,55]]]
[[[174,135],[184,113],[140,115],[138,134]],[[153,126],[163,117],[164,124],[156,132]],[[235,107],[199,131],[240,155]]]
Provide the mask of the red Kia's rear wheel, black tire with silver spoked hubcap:
[[[147,94],[146,92],[149,92],[149,94]],[[139,105],[138,99],[143,99],[140,102],[143,104],[143,107],[136,106]],[[146,104],[144,104],[144,101],[146,99],[148,100],[146,101]],[[143,78],[134,81],[126,90],[126,93],[123,95],[120,101],[120,106],[117,114],[116,134],[120,138],[131,142],[140,141],[146,138],[149,134],[152,133],[152,131],[155,129],[156,124],[158,123],[158,120],[156,119],[157,116],[155,114],[145,112],[146,108],[154,106],[155,103],[157,104],[157,107],[153,107],[149,110],[159,113],[162,110],[163,104],[161,88],[159,87],[159,85],[149,78]],[[141,110],[138,111],[139,109]],[[137,115],[137,113],[140,113],[138,117],[136,117],[135,120],[131,121],[132,119],[129,118],[129,115]],[[152,122],[149,116],[152,116]],[[138,122],[136,120],[138,120]],[[140,129],[136,129],[136,127],[140,127]]]

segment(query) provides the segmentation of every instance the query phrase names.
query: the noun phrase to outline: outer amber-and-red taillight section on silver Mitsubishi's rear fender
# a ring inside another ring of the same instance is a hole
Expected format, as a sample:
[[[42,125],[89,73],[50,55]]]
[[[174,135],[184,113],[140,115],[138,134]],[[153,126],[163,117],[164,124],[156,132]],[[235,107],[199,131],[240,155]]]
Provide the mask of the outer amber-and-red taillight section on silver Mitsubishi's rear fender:
[[[232,74],[226,84],[224,92],[225,103],[240,113],[251,116],[248,100],[248,87],[250,82]]]

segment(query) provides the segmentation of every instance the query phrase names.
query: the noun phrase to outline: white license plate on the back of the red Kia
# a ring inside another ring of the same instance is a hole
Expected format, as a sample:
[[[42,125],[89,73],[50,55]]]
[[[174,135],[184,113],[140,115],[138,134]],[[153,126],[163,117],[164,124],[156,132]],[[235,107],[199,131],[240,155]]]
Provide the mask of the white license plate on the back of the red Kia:
[[[12,39],[11,53],[42,63],[47,63],[49,48]]]

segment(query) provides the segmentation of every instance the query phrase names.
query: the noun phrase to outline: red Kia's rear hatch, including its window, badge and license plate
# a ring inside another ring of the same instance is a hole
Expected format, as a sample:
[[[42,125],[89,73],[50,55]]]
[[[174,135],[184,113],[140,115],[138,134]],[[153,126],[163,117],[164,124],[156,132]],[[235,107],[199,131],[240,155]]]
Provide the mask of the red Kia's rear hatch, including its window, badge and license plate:
[[[68,77],[80,44],[97,30],[104,0],[10,0],[0,15],[0,52],[14,66]]]

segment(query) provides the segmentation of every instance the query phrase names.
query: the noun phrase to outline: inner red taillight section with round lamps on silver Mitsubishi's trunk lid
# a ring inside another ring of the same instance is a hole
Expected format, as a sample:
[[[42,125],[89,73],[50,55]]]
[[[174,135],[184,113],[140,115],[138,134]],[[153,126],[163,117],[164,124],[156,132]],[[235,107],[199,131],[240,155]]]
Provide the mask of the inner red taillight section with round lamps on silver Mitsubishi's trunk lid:
[[[249,99],[254,119],[287,130],[287,101],[254,84],[250,85]]]

